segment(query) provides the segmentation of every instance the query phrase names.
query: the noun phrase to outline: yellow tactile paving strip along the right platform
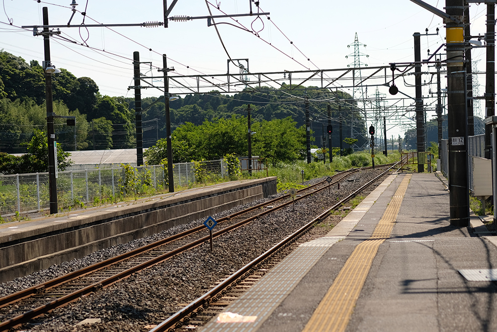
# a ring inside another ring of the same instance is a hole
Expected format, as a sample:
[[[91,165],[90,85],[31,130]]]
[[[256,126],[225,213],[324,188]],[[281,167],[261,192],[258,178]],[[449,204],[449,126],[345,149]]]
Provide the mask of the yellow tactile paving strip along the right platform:
[[[402,180],[371,237],[355,247],[303,332],[345,331],[376,252],[390,237],[409,180],[411,174]]]

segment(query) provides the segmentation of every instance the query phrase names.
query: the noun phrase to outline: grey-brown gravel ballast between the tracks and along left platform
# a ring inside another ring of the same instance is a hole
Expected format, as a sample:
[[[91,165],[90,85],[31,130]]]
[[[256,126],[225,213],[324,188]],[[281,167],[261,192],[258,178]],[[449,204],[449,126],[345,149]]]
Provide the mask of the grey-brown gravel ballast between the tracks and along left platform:
[[[334,205],[341,197],[350,194],[380,173],[378,169],[355,173],[351,178],[356,181],[342,182],[339,191],[333,186],[331,194],[328,194],[328,190],[313,194],[305,200],[295,202],[295,210],[290,205],[275,214],[263,216],[214,239],[213,252],[210,252],[209,243],[204,243],[163,263],[135,273],[97,293],[85,296],[64,308],[56,309],[45,317],[32,321],[32,324],[24,330],[146,331],[144,330],[146,325],[159,324],[182,306],[203,295],[220,278],[237,271]],[[307,185],[321,180],[323,179],[315,179]],[[381,181],[370,186],[368,192],[375,189]],[[364,194],[366,195],[367,193]],[[240,206],[213,217],[218,219],[274,197]],[[99,250],[82,259],[54,265],[49,269],[0,284],[0,297],[168,237],[197,226],[203,221],[192,221],[147,238]],[[99,319],[99,321],[77,325],[85,319]]]

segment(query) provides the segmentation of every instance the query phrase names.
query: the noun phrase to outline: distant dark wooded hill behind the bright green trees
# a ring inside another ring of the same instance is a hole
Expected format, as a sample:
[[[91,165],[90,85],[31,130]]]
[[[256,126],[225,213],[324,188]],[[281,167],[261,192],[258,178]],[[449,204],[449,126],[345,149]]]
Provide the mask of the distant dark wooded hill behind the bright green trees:
[[[329,92],[316,87],[307,87],[302,90],[292,90],[292,95],[285,88],[279,90],[263,87],[260,92],[248,89],[233,96],[212,91],[203,95],[187,95],[184,98],[170,103],[172,130],[177,126],[191,122],[200,125],[204,120],[215,121],[220,118],[229,118],[234,114],[247,116],[247,105],[251,105],[251,119],[253,121],[270,121],[272,119],[285,119],[291,117],[296,126],[305,124],[304,96],[310,100],[309,111],[311,114],[311,130],[314,132],[314,142],[321,147],[321,135],[326,129],[328,103],[331,102],[332,141],[333,146],[339,146],[339,124],[342,124],[342,138],[351,137],[351,132],[366,132],[364,121],[345,93]],[[341,111],[335,103],[338,97]],[[157,98],[142,99],[142,108],[147,109]],[[318,102],[317,100],[321,101]],[[126,99],[131,109],[134,109],[134,100]],[[164,103],[158,102],[143,112],[144,120],[144,146],[148,147],[158,138],[166,137],[166,122],[164,120]],[[157,127],[158,125],[158,127]],[[357,134],[356,134],[357,135]],[[358,138],[356,146],[365,143],[364,137]]]

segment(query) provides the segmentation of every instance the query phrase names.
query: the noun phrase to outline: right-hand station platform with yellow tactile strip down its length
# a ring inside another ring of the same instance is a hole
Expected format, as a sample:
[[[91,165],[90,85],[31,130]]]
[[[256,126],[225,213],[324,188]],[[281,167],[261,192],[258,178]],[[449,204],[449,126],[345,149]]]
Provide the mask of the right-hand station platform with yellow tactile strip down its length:
[[[435,174],[391,175],[199,331],[497,331],[497,236],[471,224]]]

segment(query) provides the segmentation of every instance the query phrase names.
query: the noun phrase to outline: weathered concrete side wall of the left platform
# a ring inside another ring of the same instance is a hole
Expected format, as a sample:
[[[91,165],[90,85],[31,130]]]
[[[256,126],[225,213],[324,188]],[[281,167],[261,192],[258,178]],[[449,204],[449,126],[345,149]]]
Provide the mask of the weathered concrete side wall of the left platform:
[[[24,227],[24,231],[0,236],[0,282],[273,194],[275,177],[237,181],[229,186],[204,187],[166,199],[107,207],[104,211]]]

